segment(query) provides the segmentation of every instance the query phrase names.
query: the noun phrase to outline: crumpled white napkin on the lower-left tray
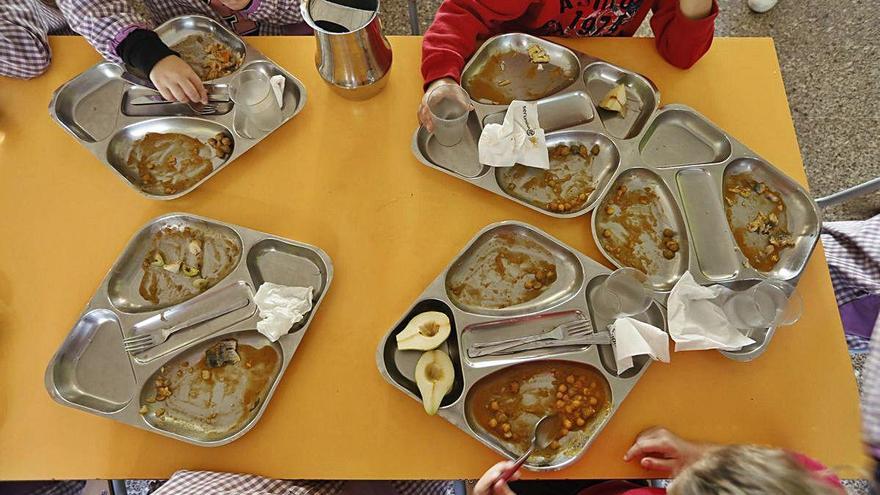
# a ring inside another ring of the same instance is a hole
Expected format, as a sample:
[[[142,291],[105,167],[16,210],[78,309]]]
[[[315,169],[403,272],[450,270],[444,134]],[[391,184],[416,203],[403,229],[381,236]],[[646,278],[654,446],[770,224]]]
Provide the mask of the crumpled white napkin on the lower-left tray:
[[[275,342],[312,310],[312,287],[289,287],[264,282],[254,295],[260,310],[257,331]]]

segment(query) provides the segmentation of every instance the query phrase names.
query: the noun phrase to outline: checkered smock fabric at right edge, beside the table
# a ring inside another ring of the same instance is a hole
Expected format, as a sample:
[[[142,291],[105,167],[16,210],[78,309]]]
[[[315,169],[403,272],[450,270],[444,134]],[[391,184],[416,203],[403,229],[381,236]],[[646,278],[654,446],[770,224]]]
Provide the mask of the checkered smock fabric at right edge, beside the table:
[[[880,296],[880,215],[862,221],[828,222],[822,228],[822,244],[846,328],[851,303],[862,304],[868,296]],[[871,328],[870,322],[867,328]],[[864,332],[849,328],[846,338],[851,351],[868,350]]]

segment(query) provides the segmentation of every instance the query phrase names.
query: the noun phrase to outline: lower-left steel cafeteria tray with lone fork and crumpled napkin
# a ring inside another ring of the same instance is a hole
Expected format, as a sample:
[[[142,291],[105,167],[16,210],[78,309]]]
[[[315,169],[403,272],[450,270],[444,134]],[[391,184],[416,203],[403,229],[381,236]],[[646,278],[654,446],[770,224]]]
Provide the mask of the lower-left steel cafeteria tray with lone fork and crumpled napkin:
[[[198,239],[199,253],[188,251],[186,236],[156,241],[182,232]],[[166,285],[165,295],[147,292],[145,298],[142,285],[167,281],[161,266],[149,265],[156,252],[182,256],[185,263],[201,256],[192,266],[201,267],[208,287],[183,291]],[[153,268],[158,280],[147,278]],[[232,442],[259,421],[332,278],[330,258],[314,246],[187,213],[163,215],[135,234],[104,277],[50,361],[46,389],[62,405],[192,444]],[[311,312],[276,342],[256,331],[253,294],[264,282],[314,288]],[[221,309],[228,312],[152,349],[133,355],[123,350],[124,338]],[[207,364],[208,349],[228,339],[237,341],[240,362]],[[161,387],[170,387],[169,398],[157,400]]]

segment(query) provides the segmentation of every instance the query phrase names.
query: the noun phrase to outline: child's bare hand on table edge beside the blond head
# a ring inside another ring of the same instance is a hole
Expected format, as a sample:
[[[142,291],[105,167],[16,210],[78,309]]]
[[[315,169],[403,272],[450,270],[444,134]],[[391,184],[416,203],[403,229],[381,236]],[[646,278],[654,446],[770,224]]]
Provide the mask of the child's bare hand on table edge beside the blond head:
[[[645,469],[674,475],[702,457],[709,448],[711,445],[688,442],[666,428],[654,427],[639,433],[623,460],[639,459]]]

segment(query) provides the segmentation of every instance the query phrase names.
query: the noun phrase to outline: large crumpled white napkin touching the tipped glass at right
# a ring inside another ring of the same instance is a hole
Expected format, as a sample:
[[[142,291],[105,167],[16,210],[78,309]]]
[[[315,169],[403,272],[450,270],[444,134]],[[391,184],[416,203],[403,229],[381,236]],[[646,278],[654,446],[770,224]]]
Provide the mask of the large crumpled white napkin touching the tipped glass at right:
[[[704,287],[690,272],[679,279],[667,303],[669,335],[675,351],[720,349],[737,351],[755,341],[730,324],[721,305],[733,291],[721,285]]]

